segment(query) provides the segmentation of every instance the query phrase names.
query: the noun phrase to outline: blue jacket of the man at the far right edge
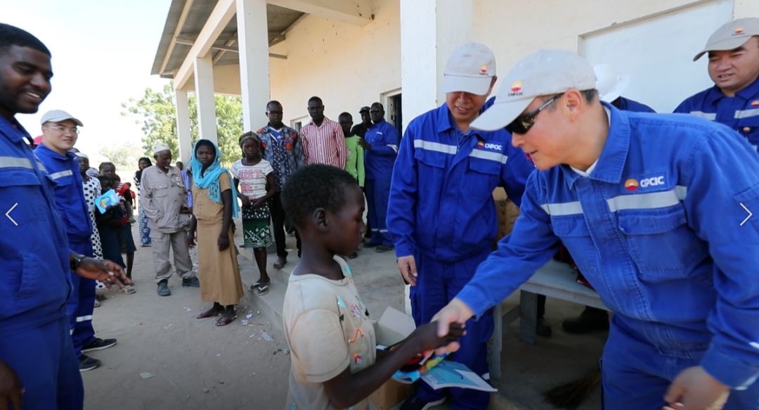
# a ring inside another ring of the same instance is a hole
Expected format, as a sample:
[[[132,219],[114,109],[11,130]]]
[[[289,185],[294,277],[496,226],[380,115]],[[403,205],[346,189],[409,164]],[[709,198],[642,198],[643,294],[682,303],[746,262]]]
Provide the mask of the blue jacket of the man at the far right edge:
[[[716,85],[707,88],[689,96],[675,112],[727,125],[745,137],[754,150],[759,150],[759,78],[732,97],[726,96]]]

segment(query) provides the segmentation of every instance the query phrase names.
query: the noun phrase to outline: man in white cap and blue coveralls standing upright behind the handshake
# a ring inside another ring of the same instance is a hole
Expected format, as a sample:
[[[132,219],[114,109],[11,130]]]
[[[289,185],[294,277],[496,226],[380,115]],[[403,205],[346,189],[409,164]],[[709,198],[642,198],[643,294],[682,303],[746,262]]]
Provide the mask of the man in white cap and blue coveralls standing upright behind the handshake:
[[[477,43],[449,57],[442,88],[446,103],[408,125],[392,172],[387,227],[395,243],[398,270],[411,284],[417,325],[427,323],[471,278],[493,247],[497,233],[493,189],[503,186],[519,204],[534,167],[511,135],[469,128],[496,83],[496,58]],[[488,378],[487,339],[493,315],[467,323],[454,360]],[[427,408],[444,400],[442,390],[417,384],[402,409]],[[487,408],[479,390],[451,389],[452,408]]]

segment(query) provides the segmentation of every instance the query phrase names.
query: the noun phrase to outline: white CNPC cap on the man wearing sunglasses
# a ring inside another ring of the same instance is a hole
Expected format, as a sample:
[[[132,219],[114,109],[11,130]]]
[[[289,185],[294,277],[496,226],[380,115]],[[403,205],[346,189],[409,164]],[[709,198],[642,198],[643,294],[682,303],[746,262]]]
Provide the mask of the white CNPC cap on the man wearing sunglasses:
[[[540,50],[523,58],[502,78],[496,102],[477,117],[472,128],[497,130],[514,121],[538,96],[566,90],[593,90],[593,67],[574,52]]]

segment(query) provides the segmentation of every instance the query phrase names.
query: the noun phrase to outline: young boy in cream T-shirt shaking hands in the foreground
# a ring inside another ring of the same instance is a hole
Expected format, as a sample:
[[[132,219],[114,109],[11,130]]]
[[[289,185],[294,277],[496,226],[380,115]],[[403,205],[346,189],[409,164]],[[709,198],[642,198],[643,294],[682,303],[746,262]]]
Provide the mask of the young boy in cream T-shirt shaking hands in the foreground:
[[[335,256],[355,251],[366,229],[364,195],[351,174],[306,166],[288,179],[282,205],[303,241],[282,312],[292,352],[285,408],[367,408],[367,396],[406,361],[461,336],[457,326],[438,337],[427,324],[391,352],[375,351],[369,311]]]

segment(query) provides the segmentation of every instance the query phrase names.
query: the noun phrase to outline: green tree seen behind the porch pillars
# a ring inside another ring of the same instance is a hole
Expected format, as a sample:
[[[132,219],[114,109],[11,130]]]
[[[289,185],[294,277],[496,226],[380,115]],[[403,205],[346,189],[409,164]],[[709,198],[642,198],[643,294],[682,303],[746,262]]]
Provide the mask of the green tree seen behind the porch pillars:
[[[216,134],[219,140],[219,150],[222,151],[222,163],[230,166],[235,159],[240,158],[238,138],[242,134],[242,100],[236,96],[215,96],[216,102]],[[174,85],[166,84],[162,90],[151,88],[145,90],[141,99],[131,98],[121,104],[124,112],[121,115],[134,115],[135,122],[142,126],[143,150],[146,156],[153,156],[153,147],[162,142],[172,150],[172,155],[178,159],[179,137],[177,135],[177,112],[174,102]],[[190,129],[193,144],[199,139],[197,127],[196,98],[189,98]]]

